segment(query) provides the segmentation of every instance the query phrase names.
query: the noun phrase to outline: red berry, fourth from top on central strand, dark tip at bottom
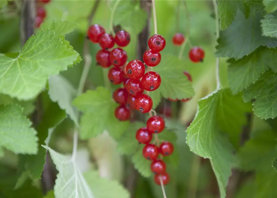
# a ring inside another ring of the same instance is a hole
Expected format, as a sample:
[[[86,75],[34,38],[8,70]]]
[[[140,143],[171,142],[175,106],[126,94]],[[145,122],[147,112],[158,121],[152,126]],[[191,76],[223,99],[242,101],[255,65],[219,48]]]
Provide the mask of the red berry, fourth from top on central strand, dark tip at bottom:
[[[154,91],[161,85],[161,77],[157,72],[149,71],[141,79],[142,87],[146,91]]]

